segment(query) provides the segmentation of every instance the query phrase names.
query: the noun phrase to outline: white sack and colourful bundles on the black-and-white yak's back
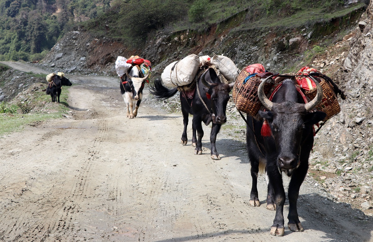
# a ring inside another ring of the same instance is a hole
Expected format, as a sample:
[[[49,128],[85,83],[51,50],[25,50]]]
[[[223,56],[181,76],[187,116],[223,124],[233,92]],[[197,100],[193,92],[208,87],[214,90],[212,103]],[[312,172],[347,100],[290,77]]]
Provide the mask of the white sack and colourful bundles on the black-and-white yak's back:
[[[147,78],[147,82],[149,83],[150,75],[151,75],[151,62],[140,56],[131,56],[130,58],[125,58],[123,56],[118,56],[115,61],[115,70],[118,74],[118,77],[121,79],[126,74],[129,68],[132,66],[139,66],[139,70],[143,77],[146,77],[148,73],[149,76]]]

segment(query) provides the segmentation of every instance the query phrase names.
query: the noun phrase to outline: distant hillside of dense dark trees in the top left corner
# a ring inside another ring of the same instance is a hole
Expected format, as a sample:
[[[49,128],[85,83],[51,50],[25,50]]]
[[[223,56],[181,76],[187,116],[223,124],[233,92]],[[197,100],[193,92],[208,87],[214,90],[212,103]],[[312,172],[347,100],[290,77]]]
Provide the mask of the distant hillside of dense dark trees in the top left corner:
[[[108,0],[1,0],[0,60],[40,60],[76,22],[109,6]]]

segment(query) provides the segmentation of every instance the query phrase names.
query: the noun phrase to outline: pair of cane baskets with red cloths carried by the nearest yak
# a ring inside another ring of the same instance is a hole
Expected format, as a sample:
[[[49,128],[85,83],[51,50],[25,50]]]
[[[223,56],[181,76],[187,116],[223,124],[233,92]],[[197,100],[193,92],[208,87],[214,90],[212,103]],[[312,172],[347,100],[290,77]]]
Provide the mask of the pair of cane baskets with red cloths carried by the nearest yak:
[[[316,84],[314,83],[314,80],[316,80],[323,89],[323,99],[322,102],[316,106],[315,110],[327,114],[323,121],[330,119],[341,111],[336,95],[339,93],[342,99],[345,99],[344,93],[338,89],[336,84],[334,84],[329,77],[323,75],[317,69],[304,66],[294,75],[274,75],[270,72],[266,72],[264,66],[261,64],[249,65],[243,68],[236,79],[232,96],[238,111],[244,112],[250,116],[255,116],[257,114],[262,106],[258,98],[258,87],[261,81],[270,75],[273,75],[273,80],[275,81],[272,83],[267,82],[264,85],[264,94],[266,94],[266,96],[270,94],[273,95],[276,91],[276,87],[278,87],[281,81],[286,77],[294,77],[297,86],[306,99],[312,100],[317,93]]]

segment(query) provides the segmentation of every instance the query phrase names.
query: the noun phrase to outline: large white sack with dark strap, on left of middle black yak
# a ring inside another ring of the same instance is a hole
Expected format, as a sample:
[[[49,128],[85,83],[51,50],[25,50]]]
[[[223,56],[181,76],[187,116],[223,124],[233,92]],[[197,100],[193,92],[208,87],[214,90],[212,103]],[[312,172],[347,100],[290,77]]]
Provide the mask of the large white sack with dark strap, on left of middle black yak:
[[[197,55],[188,55],[178,63],[172,62],[166,68],[161,75],[164,86],[166,87],[177,87],[185,86],[194,80],[197,74],[200,58]],[[176,63],[176,65],[175,65]],[[175,67],[172,70],[172,67]]]

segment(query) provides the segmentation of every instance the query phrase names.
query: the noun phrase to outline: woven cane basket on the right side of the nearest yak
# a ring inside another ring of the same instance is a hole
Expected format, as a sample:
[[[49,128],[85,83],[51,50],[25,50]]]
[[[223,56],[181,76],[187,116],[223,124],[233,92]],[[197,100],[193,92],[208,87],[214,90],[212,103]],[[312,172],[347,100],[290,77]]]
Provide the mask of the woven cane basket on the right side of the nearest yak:
[[[326,117],[323,120],[324,122],[329,118],[339,114],[341,108],[339,107],[338,99],[334,91],[330,88],[329,84],[323,78],[317,78],[320,80],[320,86],[323,89],[323,98],[319,105],[316,106],[315,110],[326,112]],[[312,100],[317,93],[317,89],[314,88],[309,91],[305,91],[304,94],[310,100]]]

